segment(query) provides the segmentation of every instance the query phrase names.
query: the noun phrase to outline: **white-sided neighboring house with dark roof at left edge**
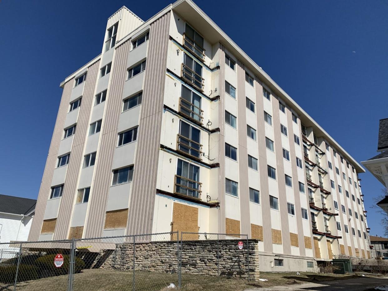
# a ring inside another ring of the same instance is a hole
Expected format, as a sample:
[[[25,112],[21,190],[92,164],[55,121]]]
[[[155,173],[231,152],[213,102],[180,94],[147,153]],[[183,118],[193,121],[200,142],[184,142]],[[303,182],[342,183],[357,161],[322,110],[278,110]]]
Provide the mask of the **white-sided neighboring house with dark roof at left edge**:
[[[35,199],[0,194],[0,262],[19,251],[7,242],[28,239],[35,204]]]

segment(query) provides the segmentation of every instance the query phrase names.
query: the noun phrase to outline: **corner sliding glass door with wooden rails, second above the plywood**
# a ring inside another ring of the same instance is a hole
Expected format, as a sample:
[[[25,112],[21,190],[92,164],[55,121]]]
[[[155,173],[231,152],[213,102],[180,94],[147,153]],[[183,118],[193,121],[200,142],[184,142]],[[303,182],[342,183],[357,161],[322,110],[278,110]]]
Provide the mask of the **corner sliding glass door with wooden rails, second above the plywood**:
[[[194,126],[180,121],[178,134],[178,151],[185,152],[193,157],[200,158],[202,145],[200,144],[201,131]]]

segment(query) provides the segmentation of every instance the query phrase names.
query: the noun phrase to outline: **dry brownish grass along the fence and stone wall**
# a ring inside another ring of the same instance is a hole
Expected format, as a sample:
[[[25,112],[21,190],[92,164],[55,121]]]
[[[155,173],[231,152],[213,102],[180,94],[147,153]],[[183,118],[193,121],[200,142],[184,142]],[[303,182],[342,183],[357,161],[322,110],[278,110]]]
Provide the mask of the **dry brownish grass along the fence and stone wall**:
[[[75,274],[74,290],[82,291],[106,291],[106,290],[132,290],[133,273],[113,271],[113,270],[83,270],[80,274]],[[210,276],[199,276],[182,274],[182,290],[184,291],[243,291],[245,289],[255,289],[260,287],[272,287],[288,284],[301,284],[305,282],[322,282],[341,279],[351,279],[359,277],[357,275],[340,275],[340,274],[317,274],[301,273],[296,275],[295,272],[289,273],[270,273],[261,272],[260,277],[268,281],[248,282],[239,279],[226,279]],[[167,291],[166,288],[170,283],[177,285],[177,274],[164,274],[157,272],[136,272],[136,291]],[[19,291],[41,291],[56,290],[66,291],[68,285],[68,276],[62,275],[49,277],[35,281],[18,283]],[[13,290],[13,284],[0,286],[0,290]]]

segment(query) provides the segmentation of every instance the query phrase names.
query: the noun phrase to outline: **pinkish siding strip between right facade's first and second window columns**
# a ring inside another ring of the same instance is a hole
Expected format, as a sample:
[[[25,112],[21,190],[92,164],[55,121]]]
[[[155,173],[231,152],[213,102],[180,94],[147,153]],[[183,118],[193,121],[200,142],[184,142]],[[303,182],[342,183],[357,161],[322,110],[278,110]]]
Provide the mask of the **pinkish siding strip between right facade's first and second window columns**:
[[[244,65],[237,61],[237,124],[238,124],[238,157],[239,157],[239,202],[240,229],[242,234],[251,237],[251,220],[249,217],[249,185],[248,185],[248,149],[246,130],[245,101],[245,70]],[[225,114],[224,114],[225,116]],[[257,140],[257,138],[256,138]]]

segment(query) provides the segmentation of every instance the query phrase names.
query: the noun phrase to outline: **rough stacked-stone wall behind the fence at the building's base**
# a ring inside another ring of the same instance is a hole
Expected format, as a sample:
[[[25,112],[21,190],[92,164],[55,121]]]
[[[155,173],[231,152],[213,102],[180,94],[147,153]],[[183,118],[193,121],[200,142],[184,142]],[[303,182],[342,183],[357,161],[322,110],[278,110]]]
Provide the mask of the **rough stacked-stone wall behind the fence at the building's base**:
[[[258,241],[243,241],[242,249],[238,240],[198,240],[183,241],[182,252],[177,242],[152,241],[135,243],[135,270],[165,273],[178,272],[178,256],[181,255],[182,275],[185,273],[258,280]],[[247,249],[248,244],[248,249]],[[133,269],[133,243],[116,244],[115,250],[100,250],[94,258],[89,258],[90,268],[110,270]],[[249,260],[248,260],[249,254]],[[90,256],[90,255],[89,255]],[[87,258],[84,258],[87,260]],[[248,267],[249,266],[249,267]]]

